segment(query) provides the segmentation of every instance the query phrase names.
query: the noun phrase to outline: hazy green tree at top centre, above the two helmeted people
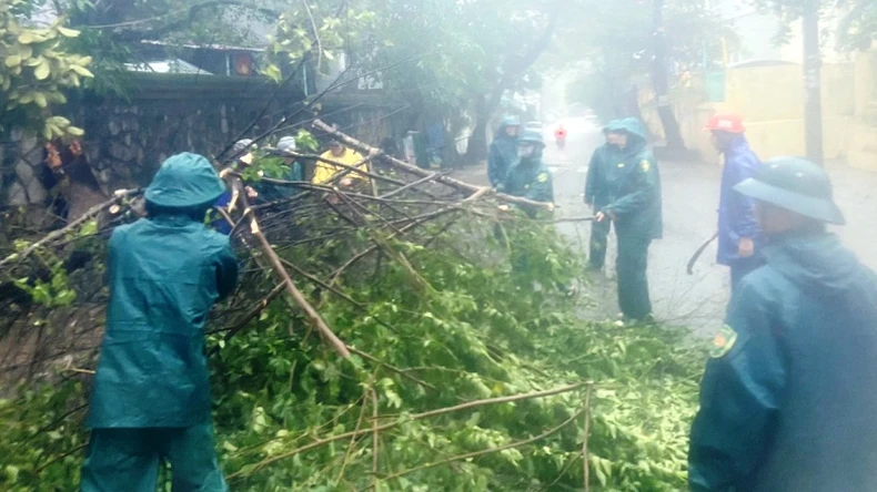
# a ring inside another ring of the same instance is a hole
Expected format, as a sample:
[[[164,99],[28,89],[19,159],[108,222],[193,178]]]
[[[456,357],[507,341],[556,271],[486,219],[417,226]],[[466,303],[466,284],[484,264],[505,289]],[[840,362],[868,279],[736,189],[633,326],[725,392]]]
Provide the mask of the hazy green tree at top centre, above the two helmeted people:
[[[471,113],[466,160],[477,161],[503,94],[526,83],[528,70],[548,48],[560,14],[556,3],[371,2],[375,25],[355,54],[366,68],[396,64],[382,72],[383,81],[411,105],[411,127],[437,121],[453,139]]]

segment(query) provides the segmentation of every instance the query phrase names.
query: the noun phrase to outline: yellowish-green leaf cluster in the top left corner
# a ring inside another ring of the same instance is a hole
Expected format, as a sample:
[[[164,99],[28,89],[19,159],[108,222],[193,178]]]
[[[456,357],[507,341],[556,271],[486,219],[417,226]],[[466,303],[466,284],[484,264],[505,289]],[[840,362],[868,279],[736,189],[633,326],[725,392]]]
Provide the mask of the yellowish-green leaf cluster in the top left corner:
[[[0,4],[0,134],[19,127],[46,139],[81,136],[82,130],[67,119],[49,114],[52,105],[67,102],[64,89],[92,76],[91,58],[65,50],[79,31],[65,28],[63,18],[40,28],[23,23],[26,7],[24,0]]]

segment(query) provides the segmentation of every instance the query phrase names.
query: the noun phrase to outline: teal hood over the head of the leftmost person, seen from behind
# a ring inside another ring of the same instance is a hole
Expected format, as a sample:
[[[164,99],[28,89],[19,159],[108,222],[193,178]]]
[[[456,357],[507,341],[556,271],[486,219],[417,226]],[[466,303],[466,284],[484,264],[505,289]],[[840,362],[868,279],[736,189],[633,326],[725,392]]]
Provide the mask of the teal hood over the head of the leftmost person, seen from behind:
[[[225,184],[206,157],[189,152],[169,157],[147,188],[147,201],[161,207],[189,208],[211,204]]]

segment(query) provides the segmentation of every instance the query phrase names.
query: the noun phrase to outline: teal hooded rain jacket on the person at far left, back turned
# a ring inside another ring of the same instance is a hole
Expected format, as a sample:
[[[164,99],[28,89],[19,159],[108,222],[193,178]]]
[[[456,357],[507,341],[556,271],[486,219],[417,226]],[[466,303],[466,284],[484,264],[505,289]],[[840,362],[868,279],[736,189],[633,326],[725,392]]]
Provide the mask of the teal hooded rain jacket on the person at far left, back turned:
[[[210,308],[238,280],[229,238],[203,224],[223,189],[205,158],[173,156],[147,189],[155,205],[151,216],[113,232],[107,332],[89,427],[209,422],[204,325]]]

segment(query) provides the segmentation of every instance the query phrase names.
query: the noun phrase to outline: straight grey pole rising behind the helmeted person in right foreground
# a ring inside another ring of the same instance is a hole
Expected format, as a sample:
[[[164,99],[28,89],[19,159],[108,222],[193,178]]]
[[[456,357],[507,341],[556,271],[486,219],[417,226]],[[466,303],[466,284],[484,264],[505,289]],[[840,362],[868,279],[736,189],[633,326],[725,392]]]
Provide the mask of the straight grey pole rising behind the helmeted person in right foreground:
[[[825,165],[823,153],[821,55],[819,54],[819,2],[812,0],[802,16],[804,38],[804,136],[807,158]]]

